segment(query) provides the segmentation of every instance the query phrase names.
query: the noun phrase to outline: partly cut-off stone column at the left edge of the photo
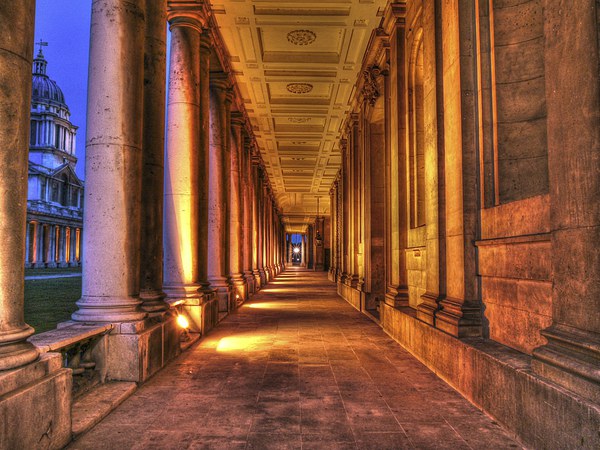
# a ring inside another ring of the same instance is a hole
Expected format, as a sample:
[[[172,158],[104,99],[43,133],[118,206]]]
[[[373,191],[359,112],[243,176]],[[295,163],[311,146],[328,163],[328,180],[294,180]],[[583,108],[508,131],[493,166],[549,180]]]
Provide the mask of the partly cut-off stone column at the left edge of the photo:
[[[26,339],[33,328],[24,319],[27,149],[31,110],[31,64],[35,1],[5,2],[0,15],[0,370],[34,361],[37,349]]]

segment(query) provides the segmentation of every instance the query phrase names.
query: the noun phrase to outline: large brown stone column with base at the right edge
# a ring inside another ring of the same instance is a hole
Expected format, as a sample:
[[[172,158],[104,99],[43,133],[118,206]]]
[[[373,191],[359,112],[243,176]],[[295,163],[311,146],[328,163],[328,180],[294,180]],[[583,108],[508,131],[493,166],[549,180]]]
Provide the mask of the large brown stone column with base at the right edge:
[[[544,1],[552,326],[533,369],[600,402],[598,3]]]

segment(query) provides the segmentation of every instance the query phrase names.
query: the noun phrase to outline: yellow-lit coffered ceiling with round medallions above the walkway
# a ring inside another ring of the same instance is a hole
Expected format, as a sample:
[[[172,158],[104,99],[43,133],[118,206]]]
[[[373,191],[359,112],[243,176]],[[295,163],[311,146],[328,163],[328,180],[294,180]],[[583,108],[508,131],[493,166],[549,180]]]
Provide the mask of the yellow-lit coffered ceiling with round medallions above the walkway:
[[[385,0],[213,0],[287,230],[329,214],[337,142]]]

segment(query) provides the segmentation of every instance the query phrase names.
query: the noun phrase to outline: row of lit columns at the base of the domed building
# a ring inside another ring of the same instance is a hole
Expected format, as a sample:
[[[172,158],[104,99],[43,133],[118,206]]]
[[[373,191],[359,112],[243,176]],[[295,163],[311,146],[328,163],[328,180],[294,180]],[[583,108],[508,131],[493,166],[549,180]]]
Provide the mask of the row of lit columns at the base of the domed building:
[[[76,267],[81,228],[32,220],[27,223],[25,249],[25,267]]]

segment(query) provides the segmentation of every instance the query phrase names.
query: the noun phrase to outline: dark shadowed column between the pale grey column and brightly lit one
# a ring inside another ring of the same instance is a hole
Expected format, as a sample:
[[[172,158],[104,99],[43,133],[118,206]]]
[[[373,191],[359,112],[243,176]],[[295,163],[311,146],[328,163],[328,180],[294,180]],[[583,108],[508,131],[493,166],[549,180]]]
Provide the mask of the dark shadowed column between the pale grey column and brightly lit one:
[[[157,312],[168,308],[164,301],[166,294],[162,290],[167,2],[155,0],[147,2],[147,5],[140,299],[144,311]]]

